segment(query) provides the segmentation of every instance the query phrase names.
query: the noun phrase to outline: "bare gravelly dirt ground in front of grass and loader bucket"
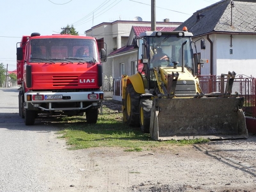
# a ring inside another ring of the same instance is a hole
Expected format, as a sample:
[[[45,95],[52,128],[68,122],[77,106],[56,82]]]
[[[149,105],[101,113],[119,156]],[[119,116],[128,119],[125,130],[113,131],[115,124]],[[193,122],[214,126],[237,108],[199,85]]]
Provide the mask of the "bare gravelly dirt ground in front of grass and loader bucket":
[[[120,103],[103,104],[121,112]],[[76,173],[76,178],[62,191],[256,191],[255,136],[246,140],[151,147],[141,152],[126,152],[121,147],[67,151],[65,140],[62,142],[62,155]]]

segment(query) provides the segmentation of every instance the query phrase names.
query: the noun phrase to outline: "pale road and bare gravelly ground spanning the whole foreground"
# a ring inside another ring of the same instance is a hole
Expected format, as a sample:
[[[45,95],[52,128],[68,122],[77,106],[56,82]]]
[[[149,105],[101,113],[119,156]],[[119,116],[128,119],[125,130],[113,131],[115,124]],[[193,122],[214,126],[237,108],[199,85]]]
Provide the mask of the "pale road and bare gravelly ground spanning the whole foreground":
[[[15,89],[0,89],[0,192],[256,191],[256,137],[166,145],[67,150],[47,120],[25,126]],[[121,113],[120,102],[104,100]]]

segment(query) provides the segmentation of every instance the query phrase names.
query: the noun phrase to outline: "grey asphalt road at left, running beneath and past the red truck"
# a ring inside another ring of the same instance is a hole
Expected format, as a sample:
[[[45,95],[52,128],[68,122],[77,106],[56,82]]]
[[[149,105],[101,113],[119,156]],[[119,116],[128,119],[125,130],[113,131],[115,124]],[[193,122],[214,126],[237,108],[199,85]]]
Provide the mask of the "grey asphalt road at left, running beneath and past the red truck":
[[[56,131],[47,119],[26,126],[18,114],[17,88],[0,88],[1,192],[73,191],[79,175]]]

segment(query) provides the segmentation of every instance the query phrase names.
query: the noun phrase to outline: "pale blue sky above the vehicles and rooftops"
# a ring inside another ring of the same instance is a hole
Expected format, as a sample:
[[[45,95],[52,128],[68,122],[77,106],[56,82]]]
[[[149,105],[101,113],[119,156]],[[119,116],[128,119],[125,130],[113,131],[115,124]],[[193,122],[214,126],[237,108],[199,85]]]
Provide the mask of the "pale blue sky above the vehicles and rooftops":
[[[156,21],[184,22],[197,10],[220,0],[156,0]],[[2,0],[0,63],[16,70],[16,46],[23,35],[58,34],[73,25],[79,35],[103,22],[151,21],[151,0]],[[18,44],[19,45],[19,44]],[[108,46],[108,45],[107,45]]]

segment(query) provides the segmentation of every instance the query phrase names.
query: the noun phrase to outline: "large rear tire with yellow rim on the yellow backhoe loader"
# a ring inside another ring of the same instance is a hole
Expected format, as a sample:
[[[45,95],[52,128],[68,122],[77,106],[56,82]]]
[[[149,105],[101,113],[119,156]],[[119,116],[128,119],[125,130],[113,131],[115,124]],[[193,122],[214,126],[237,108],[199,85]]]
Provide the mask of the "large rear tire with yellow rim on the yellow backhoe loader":
[[[140,126],[139,103],[140,94],[136,93],[133,85],[129,84],[125,92],[125,117],[128,125]]]

